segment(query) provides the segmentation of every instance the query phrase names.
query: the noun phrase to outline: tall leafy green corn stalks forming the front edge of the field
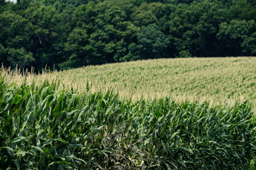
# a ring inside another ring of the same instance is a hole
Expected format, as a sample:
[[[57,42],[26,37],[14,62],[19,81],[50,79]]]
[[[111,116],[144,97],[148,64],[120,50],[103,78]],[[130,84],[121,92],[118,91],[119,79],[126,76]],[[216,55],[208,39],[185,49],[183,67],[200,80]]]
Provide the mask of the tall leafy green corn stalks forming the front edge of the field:
[[[255,156],[247,103],[135,103],[113,91],[0,80],[0,169],[242,169]]]

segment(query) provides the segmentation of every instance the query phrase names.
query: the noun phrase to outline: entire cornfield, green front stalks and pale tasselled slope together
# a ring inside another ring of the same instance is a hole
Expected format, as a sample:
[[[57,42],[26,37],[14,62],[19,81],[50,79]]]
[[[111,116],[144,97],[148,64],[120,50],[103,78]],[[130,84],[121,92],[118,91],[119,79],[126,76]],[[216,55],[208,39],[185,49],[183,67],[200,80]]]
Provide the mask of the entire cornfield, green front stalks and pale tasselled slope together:
[[[0,169],[255,169],[255,59],[1,69]]]

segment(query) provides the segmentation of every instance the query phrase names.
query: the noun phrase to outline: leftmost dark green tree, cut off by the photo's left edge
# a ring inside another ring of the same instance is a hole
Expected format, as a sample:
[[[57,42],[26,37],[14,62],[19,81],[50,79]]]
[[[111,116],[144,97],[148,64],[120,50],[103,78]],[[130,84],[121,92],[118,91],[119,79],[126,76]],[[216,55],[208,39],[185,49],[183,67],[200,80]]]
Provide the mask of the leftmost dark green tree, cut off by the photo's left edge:
[[[30,67],[34,63],[31,52],[32,24],[13,11],[0,14],[0,55],[6,66]]]

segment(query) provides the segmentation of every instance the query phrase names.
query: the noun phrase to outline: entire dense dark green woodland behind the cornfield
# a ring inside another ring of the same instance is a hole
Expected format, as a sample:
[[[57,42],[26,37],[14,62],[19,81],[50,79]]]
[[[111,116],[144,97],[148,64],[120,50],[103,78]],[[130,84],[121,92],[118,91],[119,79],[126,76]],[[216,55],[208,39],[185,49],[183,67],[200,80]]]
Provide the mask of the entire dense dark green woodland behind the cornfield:
[[[247,0],[0,1],[0,62],[81,67],[164,57],[256,55]]]

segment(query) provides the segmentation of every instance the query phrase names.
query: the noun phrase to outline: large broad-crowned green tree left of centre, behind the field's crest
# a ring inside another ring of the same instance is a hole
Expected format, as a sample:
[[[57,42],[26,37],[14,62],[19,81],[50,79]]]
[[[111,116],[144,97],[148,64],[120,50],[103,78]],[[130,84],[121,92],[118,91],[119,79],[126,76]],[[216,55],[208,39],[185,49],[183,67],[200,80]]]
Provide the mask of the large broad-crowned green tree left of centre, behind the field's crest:
[[[65,50],[70,58],[61,67],[68,68],[69,64],[75,63],[87,65],[124,61],[124,56],[129,53],[129,43],[137,40],[139,28],[125,21],[126,15],[121,8],[110,6],[107,2],[89,3],[79,8],[74,13],[77,20],[74,30],[79,31],[74,33],[73,30],[69,35]]]

